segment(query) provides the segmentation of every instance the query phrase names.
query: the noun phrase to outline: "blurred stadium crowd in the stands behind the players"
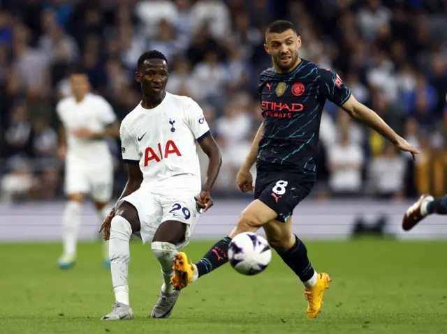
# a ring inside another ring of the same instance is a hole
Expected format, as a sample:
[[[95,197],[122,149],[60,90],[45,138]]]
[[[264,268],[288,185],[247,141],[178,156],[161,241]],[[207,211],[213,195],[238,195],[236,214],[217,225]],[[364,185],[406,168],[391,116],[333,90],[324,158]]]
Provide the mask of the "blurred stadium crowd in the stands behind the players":
[[[214,193],[235,174],[262,120],[258,74],[268,23],[287,19],[300,56],[332,68],[354,96],[418,147],[397,153],[332,103],[321,120],[318,199],[402,199],[446,192],[447,2],[379,0],[0,0],[0,188],[3,200],[61,197],[54,106],[82,63],[96,93],[123,119],[140,102],[135,62],[168,57],[168,91],[198,101],[223,153]],[[117,194],[126,181],[116,157]],[[203,165],[206,164],[205,159]]]

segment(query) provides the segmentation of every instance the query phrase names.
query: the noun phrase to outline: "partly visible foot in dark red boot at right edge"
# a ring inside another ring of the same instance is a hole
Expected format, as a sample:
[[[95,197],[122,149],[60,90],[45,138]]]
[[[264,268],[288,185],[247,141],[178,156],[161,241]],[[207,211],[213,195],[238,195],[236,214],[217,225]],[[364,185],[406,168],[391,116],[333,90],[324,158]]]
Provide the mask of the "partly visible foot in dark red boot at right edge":
[[[435,199],[431,195],[422,195],[418,202],[408,208],[402,220],[402,228],[409,231],[415,227],[420,220],[428,215],[447,215],[447,195]]]

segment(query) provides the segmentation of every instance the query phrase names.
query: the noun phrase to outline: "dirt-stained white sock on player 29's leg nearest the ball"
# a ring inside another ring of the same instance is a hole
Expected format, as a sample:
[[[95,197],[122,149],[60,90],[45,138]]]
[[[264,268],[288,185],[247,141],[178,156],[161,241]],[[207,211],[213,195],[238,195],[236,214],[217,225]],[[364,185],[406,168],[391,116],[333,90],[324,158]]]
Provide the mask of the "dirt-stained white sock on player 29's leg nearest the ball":
[[[156,241],[152,243],[152,252],[156,259],[159,260],[161,266],[161,275],[163,276],[163,286],[161,287],[161,291],[166,292],[167,294],[172,294],[175,289],[173,284],[171,284],[170,279],[174,275],[173,265],[174,265],[174,257],[177,255],[178,251],[175,248],[175,245],[172,243],[161,243]]]

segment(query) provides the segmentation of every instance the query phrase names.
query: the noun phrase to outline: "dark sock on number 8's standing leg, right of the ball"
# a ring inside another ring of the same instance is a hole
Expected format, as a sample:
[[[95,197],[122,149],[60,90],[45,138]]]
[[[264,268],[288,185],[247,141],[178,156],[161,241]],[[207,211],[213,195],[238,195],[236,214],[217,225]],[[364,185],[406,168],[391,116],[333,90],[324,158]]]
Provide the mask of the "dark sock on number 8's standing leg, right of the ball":
[[[295,236],[295,244],[290,250],[278,252],[278,255],[300,278],[301,282],[308,282],[314,278],[315,271],[307,257],[307,248],[298,236]]]

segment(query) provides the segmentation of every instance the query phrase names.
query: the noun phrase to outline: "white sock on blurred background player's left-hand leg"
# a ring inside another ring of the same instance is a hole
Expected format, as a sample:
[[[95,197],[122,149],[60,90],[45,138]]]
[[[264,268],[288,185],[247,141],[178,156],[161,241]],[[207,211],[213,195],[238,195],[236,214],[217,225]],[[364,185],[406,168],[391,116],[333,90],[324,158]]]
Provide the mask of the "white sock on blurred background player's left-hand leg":
[[[68,201],[65,206],[62,241],[64,242],[64,255],[68,257],[75,257],[76,255],[81,208],[82,204],[75,201]]]

